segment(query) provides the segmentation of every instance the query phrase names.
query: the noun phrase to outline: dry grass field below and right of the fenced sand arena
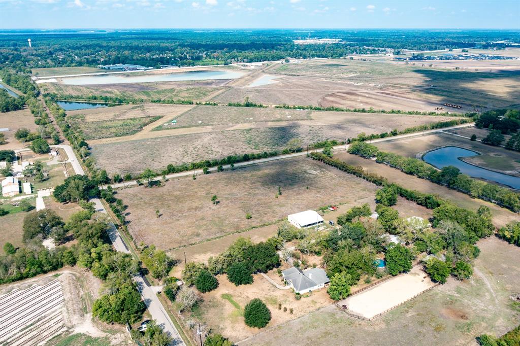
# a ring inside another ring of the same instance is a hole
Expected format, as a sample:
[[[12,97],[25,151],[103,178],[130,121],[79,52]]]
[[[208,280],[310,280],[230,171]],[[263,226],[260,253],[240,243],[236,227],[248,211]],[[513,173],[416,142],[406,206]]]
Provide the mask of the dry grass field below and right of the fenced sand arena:
[[[450,278],[371,322],[348,317],[330,305],[238,344],[310,346],[320,340],[329,345],[446,345],[474,344],[475,336],[483,333],[503,335],[520,317],[510,298],[520,286],[520,250],[494,237],[477,245],[482,252],[470,280]]]

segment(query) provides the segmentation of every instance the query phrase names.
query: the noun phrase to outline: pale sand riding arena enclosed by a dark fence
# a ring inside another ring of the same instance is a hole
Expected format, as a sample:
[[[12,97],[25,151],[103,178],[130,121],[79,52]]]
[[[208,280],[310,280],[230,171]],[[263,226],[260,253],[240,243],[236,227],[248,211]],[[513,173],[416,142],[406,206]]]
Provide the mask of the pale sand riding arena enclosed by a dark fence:
[[[360,294],[339,301],[349,312],[365,318],[384,313],[402,302],[421,294],[435,286],[420,267],[414,267],[406,274],[398,275]]]

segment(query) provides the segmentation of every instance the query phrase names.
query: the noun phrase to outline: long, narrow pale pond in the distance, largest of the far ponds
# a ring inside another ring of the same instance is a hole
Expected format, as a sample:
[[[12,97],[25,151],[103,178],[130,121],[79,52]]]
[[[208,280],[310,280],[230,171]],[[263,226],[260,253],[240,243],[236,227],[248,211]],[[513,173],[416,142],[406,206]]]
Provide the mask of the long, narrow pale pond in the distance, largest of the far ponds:
[[[177,82],[203,81],[205,79],[236,79],[243,75],[241,72],[223,70],[188,71],[176,73],[147,73],[136,75],[102,74],[92,76],[61,78],[61,83],[67,85],[90,84],[126,84],[150,82]],[[43,81],[43,79],[41,80]]]

